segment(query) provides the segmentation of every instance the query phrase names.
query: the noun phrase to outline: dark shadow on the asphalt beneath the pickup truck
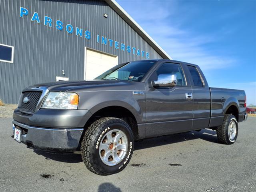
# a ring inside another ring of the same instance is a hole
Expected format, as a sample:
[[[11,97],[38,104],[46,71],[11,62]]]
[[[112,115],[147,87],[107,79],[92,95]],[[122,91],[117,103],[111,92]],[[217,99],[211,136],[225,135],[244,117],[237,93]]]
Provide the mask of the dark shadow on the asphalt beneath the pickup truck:
[[[203,129],[200,132],[191,131],[187,133],[172,134],[167,136],[159,136],[155,138],[138,140],[134,144],[134,150],[168,145],[172,143],[184,142],[184,141],[194,140],[194,139],[202,139],[209,142],[218,143],[218,139],[215,131],[212,131],[209,129]],[[80,154],[48,153],[48,152],[35,150],[35,149],[34,149],[34,152],[38,155],[44,156],[46,160],[55,160],[55,161],[66,162],[66,163],[82,162],[82,158]]]

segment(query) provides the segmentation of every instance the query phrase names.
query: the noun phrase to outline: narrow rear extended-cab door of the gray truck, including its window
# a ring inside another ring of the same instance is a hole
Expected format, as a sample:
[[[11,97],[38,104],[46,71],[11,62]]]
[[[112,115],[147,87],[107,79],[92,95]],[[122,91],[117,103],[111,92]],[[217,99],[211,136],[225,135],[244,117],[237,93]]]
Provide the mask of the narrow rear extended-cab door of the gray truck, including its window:
[[[211,116],[211,94],[208,83],[197,65],[186,64],[193,94],[192,130],[208,128]]]

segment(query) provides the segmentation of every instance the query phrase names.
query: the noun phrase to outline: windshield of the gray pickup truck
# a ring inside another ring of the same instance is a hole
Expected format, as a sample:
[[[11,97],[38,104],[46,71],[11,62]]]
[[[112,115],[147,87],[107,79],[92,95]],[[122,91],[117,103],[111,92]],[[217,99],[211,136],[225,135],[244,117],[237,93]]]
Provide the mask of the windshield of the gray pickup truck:
[[[132,61],[117,65],[95,79],[141,81],[156,61]]]

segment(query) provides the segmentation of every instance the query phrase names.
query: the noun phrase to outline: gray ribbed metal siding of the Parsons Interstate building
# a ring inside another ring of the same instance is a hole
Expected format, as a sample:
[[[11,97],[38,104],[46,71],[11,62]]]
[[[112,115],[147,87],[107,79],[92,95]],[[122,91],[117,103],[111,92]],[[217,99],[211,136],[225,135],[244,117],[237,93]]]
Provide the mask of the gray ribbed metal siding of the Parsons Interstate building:
[[[20,18],[20,6],[28,9],[28,16]],[[41,24],[30,21],[34,12]],[[44,16],[52,18],[51,28],[44,26]],[[56,20],[63,22],[62,31],[55,28]],[[72,24],[73,34],[66,32],[66,24]],[[0,62],[0,98],[5,103],[17,103],[29,85],[55,81],[61,70],[69,80],[83,79],[85,46],[117,55],[119,63],[145,59],[97,43],[97,34],[149,52],[150,58],[162,58],[104,1],[1,0],[0,26],[0,43],[14,46],[14,63]],[[90,40],[76,36],[76,27],[89,30]]]

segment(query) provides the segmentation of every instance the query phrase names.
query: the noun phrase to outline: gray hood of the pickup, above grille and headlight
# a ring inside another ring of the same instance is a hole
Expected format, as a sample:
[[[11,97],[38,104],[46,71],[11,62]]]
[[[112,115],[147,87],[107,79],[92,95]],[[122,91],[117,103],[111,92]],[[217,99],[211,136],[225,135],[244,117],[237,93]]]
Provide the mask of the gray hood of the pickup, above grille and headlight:
[[[78,81],[59,81],[59,82],[49,82],[49,83],[42,83],[30,86],[26,89],[31,88],[39,88],[39,87],[46,87],[49,91],[73,91],[73,92],[80,92],[83,90],[88,89],[110,89],[113,86],[125,86],[130,85],[134,82],[129,82],[127,80],[120,81],[120,80],[78,80]]]

